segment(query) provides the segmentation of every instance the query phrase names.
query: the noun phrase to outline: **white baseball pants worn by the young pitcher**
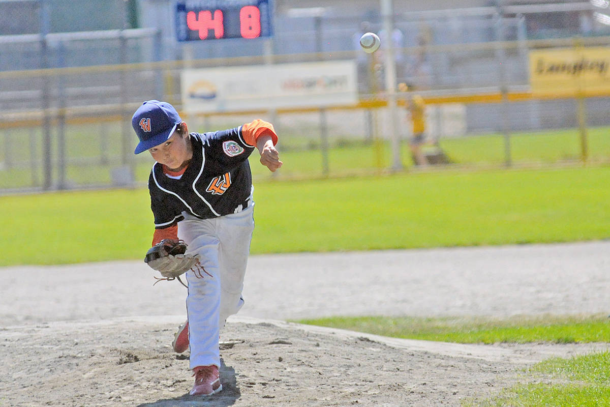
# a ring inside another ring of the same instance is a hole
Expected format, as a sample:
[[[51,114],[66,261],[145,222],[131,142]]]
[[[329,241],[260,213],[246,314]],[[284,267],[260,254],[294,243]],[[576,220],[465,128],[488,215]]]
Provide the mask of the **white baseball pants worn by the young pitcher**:
[[[178,237],[187,243],[187,253],[201,254],[201,265],[212,275],[186,273],[191,369],[220,368],[220,329],[243,306],[243,277],[254,229],[254,203],[250,202],[237,214],[212,219],[185,215],[178,223]]]

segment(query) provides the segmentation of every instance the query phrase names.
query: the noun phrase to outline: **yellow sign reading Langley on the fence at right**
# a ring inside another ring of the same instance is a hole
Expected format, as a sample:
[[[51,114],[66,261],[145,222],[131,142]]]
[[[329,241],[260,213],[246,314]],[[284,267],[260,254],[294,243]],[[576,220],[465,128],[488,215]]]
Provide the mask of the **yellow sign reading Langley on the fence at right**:
[[[575,47],[529,52],[534,94],[610,92],[610,47]]]

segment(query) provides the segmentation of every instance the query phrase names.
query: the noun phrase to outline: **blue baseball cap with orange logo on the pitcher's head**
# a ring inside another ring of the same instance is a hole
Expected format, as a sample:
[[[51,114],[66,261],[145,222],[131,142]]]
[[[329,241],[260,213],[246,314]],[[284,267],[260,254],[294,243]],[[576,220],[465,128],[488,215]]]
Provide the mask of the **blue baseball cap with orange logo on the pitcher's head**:
[[[158,100],[144,102],[131,118],[131,126],[140,139],[134,153],[140,154],[165,142],[180,123],[182,119],[171,104]]]

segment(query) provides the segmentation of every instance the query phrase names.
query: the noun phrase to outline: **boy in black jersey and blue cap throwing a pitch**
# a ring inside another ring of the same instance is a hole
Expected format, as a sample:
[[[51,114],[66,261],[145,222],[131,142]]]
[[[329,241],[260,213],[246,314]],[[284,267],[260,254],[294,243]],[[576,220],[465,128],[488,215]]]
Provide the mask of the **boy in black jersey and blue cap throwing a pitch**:
[[[171,104],[150,100],[132,117],[140,142],[156,163],[148,180],[155,231],[152,245],[186,243],[184,254],[148,262],[170,277],[187,279],[187,322],[179,327],[174,350],[190,347],[195,376],[192,395],[222,390],[220,329],[243,306],[242,288],[254,228],[253,185],[248,156],[257,148],[271,171],[282,166],[273,125],[254,120],[237,128],[188,132]]]

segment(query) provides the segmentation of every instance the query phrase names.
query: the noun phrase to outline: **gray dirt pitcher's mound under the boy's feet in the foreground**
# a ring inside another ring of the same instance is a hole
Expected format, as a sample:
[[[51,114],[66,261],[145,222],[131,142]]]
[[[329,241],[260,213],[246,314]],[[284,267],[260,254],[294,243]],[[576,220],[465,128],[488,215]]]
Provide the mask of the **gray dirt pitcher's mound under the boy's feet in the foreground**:
[[[1,406],[459,405],[508,386],[519,367],[606,344],[481,346],[391,339],[234,319],[221,335],[223,391],[190,397],[180,317],[9,326],[0,331]]]

